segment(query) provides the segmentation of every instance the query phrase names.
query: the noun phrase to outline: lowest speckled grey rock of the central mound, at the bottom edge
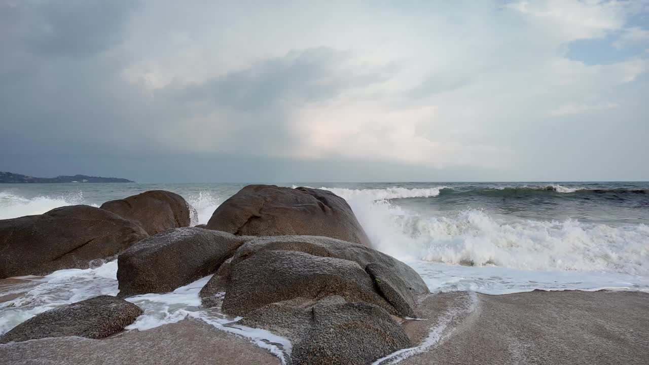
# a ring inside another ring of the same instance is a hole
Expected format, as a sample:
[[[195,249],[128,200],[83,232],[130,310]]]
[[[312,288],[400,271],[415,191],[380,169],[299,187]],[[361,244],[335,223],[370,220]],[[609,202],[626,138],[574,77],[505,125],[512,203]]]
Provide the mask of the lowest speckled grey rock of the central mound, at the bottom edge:
[[[238,323],[291,339],[293,365],[365,365],[411,346],[408,335],[386,310],[336,296],[304,308],[295,303],[267,305]]]

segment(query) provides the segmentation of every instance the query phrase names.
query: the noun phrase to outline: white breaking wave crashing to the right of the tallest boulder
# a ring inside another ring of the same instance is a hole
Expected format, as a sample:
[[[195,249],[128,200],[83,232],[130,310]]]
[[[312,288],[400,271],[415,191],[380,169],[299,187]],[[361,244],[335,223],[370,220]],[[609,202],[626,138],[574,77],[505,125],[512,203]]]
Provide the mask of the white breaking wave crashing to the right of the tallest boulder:
[[[649,227],[644,224],[501,220],[475,209],[421,216],[387,200],[348,201],[375,247],[403,260],[649,275]]]

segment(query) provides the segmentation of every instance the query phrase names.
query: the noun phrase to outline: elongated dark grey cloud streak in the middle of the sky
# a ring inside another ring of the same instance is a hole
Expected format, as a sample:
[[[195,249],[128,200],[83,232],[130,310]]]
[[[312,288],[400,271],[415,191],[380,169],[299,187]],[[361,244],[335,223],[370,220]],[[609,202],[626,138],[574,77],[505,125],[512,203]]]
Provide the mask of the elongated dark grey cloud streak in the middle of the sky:
[[[352,69],[349,54],[327,47],[294,50],[253,66],[174,90],[173,97],[238,110],[264,110],[278,103],[335,97],[343,90],[386,81],[389,69]],[[173,88],[173,87],[172,87]]]

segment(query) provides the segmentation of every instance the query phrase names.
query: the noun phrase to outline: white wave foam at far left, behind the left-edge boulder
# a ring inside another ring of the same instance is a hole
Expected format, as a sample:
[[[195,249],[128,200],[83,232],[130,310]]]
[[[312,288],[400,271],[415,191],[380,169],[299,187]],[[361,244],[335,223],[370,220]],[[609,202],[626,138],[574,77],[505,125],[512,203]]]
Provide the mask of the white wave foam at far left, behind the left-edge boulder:
[[[31,199],[11,192],[0,192],[0,220],[43,214],[54,208],[77,204],[87,204],[81,191],[55,197],[40,195]],[[88,205],[98,207],[96,204]]]

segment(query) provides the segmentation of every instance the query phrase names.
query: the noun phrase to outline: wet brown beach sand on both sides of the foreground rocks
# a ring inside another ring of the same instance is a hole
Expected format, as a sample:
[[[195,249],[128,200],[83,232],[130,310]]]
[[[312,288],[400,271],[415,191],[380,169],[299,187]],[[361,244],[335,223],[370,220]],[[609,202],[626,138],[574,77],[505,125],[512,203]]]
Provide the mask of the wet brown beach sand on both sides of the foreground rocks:
[[[447,292],[424,296],[420,305],[420,320],[404,323],[417,346],[398,351],[411,352],[400,364],[644,364],[649,358],[649,294],[645,292]],[[437,337],[431,338],[432,334]],[[212,342],[219,347],[201,346]],[[59,349],[53,351],[55,347]],[[161,359],[194,359],[195,351],[201,354],[195,364],[281,363],[246,338],[189,318],[103,340],[64,337],[0,345],[6,364],[11,365],[37,359],[66,364],[129,359],[148,365]],[[387,358],[375,364],[398,360]]]

